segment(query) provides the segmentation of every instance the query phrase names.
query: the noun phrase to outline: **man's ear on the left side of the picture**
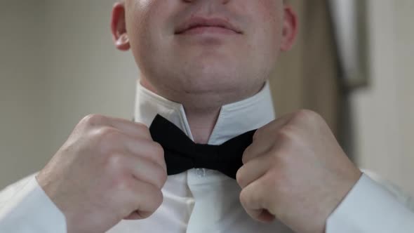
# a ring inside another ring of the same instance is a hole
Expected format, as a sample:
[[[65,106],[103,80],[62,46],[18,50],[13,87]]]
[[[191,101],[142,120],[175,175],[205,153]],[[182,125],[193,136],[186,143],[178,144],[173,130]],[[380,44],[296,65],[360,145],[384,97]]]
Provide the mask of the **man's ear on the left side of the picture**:
[[[120,51],[128,51],[131,45],[126,33],[125,5],[123,3],[116,3],[112,8],[111,31],[116,48]]]

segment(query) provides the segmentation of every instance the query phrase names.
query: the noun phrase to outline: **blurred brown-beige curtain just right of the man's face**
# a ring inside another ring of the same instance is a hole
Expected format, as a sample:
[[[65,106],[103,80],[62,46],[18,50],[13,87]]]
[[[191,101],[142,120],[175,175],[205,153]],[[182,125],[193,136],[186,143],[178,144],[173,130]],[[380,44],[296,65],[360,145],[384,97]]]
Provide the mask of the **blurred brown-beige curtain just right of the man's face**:
[[[339,136],[343,94],[328,0],[290,3],[298,13],[300,32],[293,50],[281,56],[270,81],[276,114],[312,109]]]

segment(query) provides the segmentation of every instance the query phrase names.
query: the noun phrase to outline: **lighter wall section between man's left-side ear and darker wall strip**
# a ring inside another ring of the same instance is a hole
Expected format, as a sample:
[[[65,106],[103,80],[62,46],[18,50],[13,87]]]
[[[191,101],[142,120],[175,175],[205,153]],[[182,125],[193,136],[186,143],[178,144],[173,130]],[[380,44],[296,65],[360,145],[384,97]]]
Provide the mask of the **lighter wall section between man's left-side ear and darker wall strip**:
[[[46,0],[47,98],[54,152],[90,113],[132,119],[138,69],[112,44],[113,0]]]

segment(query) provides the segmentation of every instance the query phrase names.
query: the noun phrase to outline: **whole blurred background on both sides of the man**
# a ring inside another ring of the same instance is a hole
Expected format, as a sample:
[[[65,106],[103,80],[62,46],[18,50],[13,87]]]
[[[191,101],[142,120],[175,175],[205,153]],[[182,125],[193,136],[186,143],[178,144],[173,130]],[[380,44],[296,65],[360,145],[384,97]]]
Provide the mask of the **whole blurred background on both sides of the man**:
[[[0,189],[39,171],[91,113],[132,119],[138,68],[116,51],[113,0],[0,3]],[[414,195],[414,1],[291,0],[293,51],[272,77],[276,114],[328,121],[360,167]]]

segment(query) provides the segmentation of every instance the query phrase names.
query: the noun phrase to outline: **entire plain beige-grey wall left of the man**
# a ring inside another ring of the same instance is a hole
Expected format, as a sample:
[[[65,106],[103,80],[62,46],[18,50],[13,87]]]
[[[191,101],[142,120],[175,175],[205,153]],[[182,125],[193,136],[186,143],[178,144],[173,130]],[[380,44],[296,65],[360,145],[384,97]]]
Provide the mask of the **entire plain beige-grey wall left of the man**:
[[[38,171],[89,113],[131,119],[130,53],[109,31],[112,0],[0,4],[0,189]]]

